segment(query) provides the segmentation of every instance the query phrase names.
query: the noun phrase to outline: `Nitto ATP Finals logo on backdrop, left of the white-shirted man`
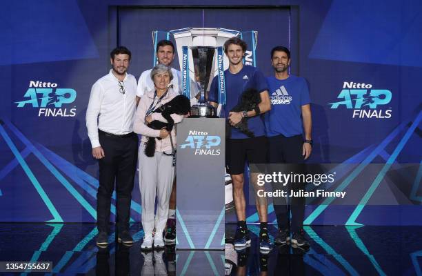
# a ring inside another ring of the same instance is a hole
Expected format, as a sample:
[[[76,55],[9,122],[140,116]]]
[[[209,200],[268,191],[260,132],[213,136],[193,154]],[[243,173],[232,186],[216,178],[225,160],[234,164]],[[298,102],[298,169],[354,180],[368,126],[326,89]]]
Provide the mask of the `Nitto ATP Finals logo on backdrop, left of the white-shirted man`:
[[[18,108],[38,108],[38,117],[74,117],[76,107],[62,108],[74,102],[77,92],[71,88],[57,88],[57,83],[30,81],[23,95],[26,100],[16,101]]]

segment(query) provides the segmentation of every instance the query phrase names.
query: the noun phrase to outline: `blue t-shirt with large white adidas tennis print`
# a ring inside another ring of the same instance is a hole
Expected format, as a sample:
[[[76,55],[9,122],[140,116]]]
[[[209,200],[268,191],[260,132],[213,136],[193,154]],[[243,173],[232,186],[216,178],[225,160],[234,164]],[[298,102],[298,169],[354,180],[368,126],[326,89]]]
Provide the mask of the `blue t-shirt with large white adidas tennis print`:
[[[268,77],[271,110],[265,113],[265,131],[268,137],[301,135],[302,109],[310,103],[308,83],[303,77],[290,75],[287,79]]]

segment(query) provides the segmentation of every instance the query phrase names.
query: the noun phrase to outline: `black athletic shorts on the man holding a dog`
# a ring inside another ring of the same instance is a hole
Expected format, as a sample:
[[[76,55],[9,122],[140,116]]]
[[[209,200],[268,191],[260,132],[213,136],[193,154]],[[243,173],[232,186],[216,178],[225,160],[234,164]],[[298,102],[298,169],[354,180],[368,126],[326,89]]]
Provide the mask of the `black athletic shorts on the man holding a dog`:
[[[267,138],[228,139],[225,143],[225,168],[230,175],[239,175],[248,164],[265,164],[267,161]]]

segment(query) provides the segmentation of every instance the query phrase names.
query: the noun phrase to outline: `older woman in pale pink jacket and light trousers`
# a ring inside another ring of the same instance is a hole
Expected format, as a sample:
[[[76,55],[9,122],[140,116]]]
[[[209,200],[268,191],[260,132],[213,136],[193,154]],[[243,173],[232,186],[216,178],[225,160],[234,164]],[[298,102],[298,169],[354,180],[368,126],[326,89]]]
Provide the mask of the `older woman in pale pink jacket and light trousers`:
[[[153,112],[163,103],[167,103],[177,95],[169,86],[172,80],[172,70],[163,64],[158,64],[151,71],[151,79],[154,82],[155,90],[150,91],[141,97],[134,119],[134,132],[142,135],[141,146],[139,147],[139,188],[142,201],[142,227],[145,233],[141,249],[163,248],[163,230],[168,217],[168,203],[172,191],[174,178],[174,166],[172,159],[172,143],[175,147],[176,132],[172,129],[170,135],[165,129],[154,130],[147,124],[150,121],[159,120],[167,122],[161,113]],[[183,119],[183,115],[171,115],[174,124]],[[155,153],[153,157],[145,155],[145,142],[148,137],[160,137],[156,139]],[[154,216],[155,197],[157,196],[157,215]],[[152,231],[155,228],[154,241]]]

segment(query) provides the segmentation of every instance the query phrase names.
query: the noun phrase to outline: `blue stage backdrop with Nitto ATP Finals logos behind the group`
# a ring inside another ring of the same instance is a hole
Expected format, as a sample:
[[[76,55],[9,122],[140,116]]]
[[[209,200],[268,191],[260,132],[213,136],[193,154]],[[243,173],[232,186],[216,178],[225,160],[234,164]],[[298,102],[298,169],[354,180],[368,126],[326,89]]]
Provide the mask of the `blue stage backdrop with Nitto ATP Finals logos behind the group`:
[[[95,221],[98,166],[85,126],[92,83],[108,72],[115,46],[132,50],[129,71],[139,77],[152,64],[152,30],[203,23],[257,30],[257,66],[265,75],[271,74],[270,49],[290,47],[292,73],[310,86],[315,142],[310,161],[359,164],[345,172],[343,186],[363,181],[368,190],[362,204],[308,206],[306,224],[422,225],[421,2],[226,2],[3,4],[0,221]],[[178,64],[175,59],[174,67]],[[371,87],[361,92],[360,83]],[[370,90],[388,90],[391,99]],[[370,163],[384,166],[364,175]],[[407,170],[405,164],[417,164],[417,169]],[[403,179],[410,188],[401,189]],[[397,197],[411,199],[412,205],[367,206],[365,200],[382,181],[394,184]],[[139,221],[135,187],[131,217]],[[257,221],[254,206],[248,216]]]

